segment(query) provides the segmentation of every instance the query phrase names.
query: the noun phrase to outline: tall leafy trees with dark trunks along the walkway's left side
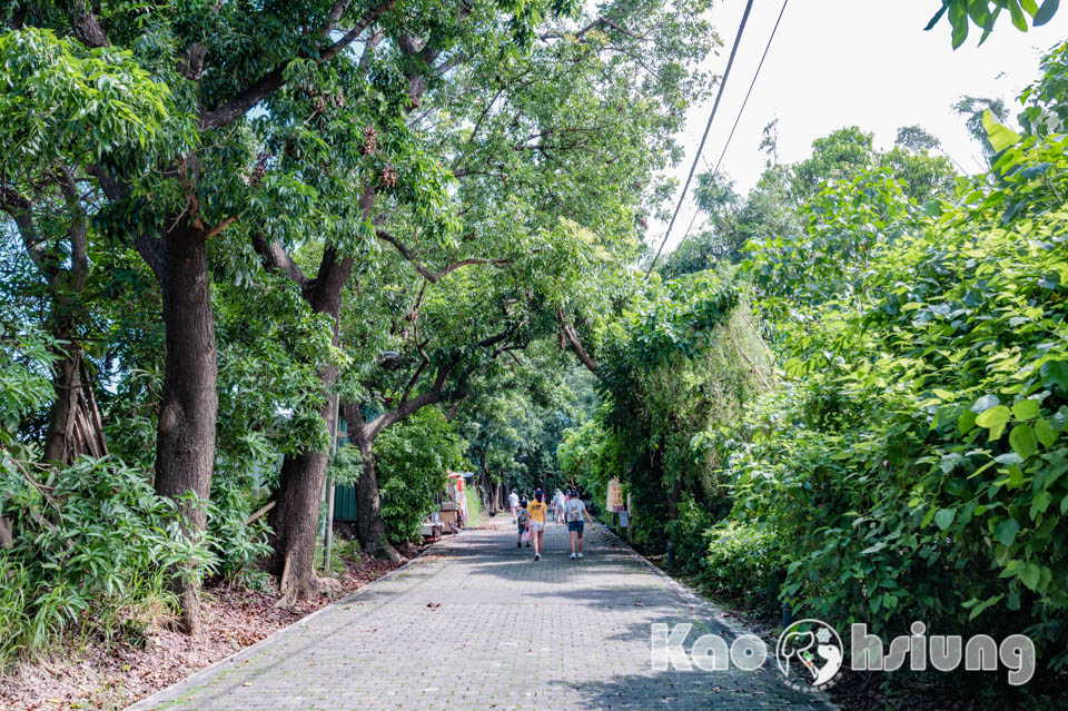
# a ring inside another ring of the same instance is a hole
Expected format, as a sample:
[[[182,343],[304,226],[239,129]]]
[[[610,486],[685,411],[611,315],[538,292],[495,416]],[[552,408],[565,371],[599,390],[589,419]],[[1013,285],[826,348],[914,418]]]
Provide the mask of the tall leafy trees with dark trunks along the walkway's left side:
[[[294,502],[335,396],[388,419],[377,482],[352,448],[332,468],[377,486],[379,540],[417,535],[468,450],[487,486],[561,482],[591,388],[555,338],[626,282],[709,90],[710,4],[4,3],[7,570],[91,601],[103,636],[140,605],[108,585],[146,581],[190,632],[200,581],[263,566],[310,594]],[[86,472],[116,490],[70,491]],[[112,498],[129,546],[71,527]],[[65,576],[52,529],[113,555]],[[9,636],[0,661],[44,640]]]

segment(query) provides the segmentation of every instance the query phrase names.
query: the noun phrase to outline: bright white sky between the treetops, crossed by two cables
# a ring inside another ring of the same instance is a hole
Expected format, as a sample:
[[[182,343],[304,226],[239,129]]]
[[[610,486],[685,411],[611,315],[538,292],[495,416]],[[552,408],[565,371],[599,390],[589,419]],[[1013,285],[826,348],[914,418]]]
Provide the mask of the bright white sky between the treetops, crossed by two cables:
[[[708,60],[715,73],[726,67],[744,7],[744,0],[722,0],[712,10],[724,45]],[[761,131],[774,118],[782,162],[805,158],[813,139],[843,126],[873,132],[876,146],[886,149],[898,127],[919,124],[966,170],[978,171],[979,146],[950,106],[963,95],[1000,97],[1012,102],[1015,116],[1016,96],[1038,76],[1044,51],[1068,38],[1068,8],[1026,33],[1012,27],[1006,12],[982,47],[977,47],[979,31],[972,27],[968,42],[953,51],[945,18],[923,31],[938,7],[934,0],[790,0],[720,171],[740,194],[752,188],[764,168]],[[698,172],[710,170],[723,150],[781,9],[781,0],[755,0]],[[679,179],[675,200],[711,109],[712,98],[693,108],[679,137],[686,155],[669,171]],[[678,245],[693,214],[688,195],[666,251]],[[666,227],[651,221],[650,244],[657,246]]]

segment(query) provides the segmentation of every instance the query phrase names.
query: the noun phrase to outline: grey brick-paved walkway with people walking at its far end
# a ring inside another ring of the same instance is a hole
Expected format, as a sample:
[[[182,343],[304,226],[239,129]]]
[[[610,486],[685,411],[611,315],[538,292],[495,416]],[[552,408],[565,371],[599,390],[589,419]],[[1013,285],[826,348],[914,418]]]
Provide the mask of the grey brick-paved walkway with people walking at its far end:
[[[534,562],[498,515],[131,711],[830,708],[771,660],[653,671],[654,622],[694,623],[686,649],[735,632],[603,530],[587,526],[581,561],[566,536],[551,524]]]

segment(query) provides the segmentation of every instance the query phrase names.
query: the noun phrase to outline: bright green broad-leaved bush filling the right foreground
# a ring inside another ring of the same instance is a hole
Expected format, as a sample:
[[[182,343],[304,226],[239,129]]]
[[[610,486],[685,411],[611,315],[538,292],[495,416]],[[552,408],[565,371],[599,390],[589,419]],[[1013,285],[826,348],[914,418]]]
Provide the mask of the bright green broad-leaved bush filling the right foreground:
[[[779,275],[805,294],[792,302],[804,320],[784,324],[794,382],[750,408],[753,445],[730,465],[733,517],[783,541],[782,592],[807,615],[1024,631],[1057,669],[1068,664],[1068,136],[1020,137],[989,117],[987,128],[990,180],[899,220],[841,294],[813,300],[807,275]],[[894,214],[850,209],[857,195],[848,184],[820,195],[846,206],[838,236],[882,230],[871,216]]]

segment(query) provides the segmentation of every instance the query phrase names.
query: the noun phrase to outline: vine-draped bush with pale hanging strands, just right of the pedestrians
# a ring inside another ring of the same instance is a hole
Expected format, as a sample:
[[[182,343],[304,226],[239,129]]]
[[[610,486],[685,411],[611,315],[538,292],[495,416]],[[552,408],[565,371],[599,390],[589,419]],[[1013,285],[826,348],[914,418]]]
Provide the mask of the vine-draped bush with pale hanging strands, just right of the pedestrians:
[[[721,462],[710,443],[718,423],[739,417],[767,387],[767,354],[726,274],[700,271],[651,286],[622,325],[602,350],[603,403],[593,419],[564,434],[557,456],[596,501],[604,501],[610,478],[625,474],[640,536],[659,544],[670,535],[683,544],[694,526],[679,520],[681,504],[726,511]]]

